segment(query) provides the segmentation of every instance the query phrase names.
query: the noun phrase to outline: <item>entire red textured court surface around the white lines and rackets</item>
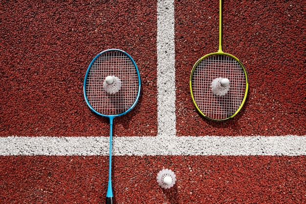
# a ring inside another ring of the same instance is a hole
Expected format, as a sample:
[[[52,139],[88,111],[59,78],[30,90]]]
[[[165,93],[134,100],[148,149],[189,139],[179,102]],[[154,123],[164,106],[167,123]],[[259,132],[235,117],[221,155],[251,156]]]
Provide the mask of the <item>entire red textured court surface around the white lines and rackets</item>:
[[[115,119],[114,137],[156,137],[159,2],[1,1],[0,137],[108,136],[108,119],[87,108],[83,82],[90,61],[109,48],[128,52],[142,80],[136,107]],[[250,87],[240,113],[216,123],[195,110],[189,76],[198,58],[218,51],[219,1],[174,1],[178,137],[305,137],[303,4],[224,1],[223,51],[244,64]],[[306,150],[301,151],[295,156],[113,156],[115,200],[306,203]],[[0,155],[0,203],[104,203],[108,160],[100,155]],[[163,168],[177,178],[167,190],[156,182]]]

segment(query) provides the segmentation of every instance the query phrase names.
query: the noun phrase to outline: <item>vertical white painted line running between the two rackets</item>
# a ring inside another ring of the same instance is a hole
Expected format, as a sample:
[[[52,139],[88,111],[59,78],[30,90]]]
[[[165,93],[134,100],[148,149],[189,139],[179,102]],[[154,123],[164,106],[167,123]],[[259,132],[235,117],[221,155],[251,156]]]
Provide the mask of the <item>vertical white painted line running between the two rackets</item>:
[[[174,0],[157,1],[157,137],[175,137]]]

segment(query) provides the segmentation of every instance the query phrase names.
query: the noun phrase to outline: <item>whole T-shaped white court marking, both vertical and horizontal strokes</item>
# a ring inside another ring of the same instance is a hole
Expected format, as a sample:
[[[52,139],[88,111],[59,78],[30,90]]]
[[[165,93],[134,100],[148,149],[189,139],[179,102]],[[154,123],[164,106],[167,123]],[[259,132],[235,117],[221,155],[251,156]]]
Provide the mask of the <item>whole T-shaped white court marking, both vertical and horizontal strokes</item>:
[[[157,136],[113,137],[113,155],[306,155],[306,136],[176,136],[174,0],[157,4]],[[0,156],[108,154],[109,137],[0,137]]]

